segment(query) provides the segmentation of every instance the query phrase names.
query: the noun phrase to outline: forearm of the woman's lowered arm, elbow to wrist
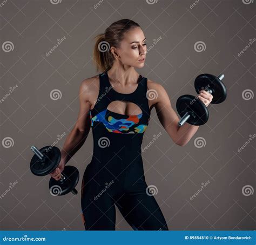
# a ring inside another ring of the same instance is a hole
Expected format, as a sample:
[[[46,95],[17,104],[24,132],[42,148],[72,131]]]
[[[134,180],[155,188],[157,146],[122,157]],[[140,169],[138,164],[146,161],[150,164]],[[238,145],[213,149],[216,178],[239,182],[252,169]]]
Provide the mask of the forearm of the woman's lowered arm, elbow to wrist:
[[[82,147],[84,144],[87,135],[89,134],[89,130],[87,131],[80,131],[78,128],[74,127],[73,130],[69,133],[64,146],[61,150],[62,153],[62,160],[68,162],[70,158]]]

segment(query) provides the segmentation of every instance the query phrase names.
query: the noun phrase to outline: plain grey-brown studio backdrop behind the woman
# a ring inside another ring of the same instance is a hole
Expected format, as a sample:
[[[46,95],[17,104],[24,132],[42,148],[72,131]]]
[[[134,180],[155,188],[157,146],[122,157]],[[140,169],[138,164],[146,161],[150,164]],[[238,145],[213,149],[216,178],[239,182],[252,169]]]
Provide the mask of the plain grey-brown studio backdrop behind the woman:
[[[80,172],[76,196],[50,195],[50,176],[30,172],[30,146],[51,145],[58,135],[72,130],[80,83],[97,74],[92,64],[93,37],[122,18],[141,25],[148,48],[161,36],[147,53],[144,68],[137,71],[165,87],[174,110],[179,96],[196,95],[193,84],[199,74],[225,74],[226,101],[208,106],[210,119],[185,147],[173,144],[156,111],[151,112],[142,147],[153,135],[161,135],[143,153],[144,171],[148,185],[157,187],[155,198],[169,229],[255,229],[256,140],[238,152],[255,132],[255,43],[238,55],[255,37],[255,1],[244,2],[204,0],[192,9],[193,1],[163,0],[103,1],[96,9],[99,1],[12,0],[2,5],[1,46],[10,41],[14,49],[0,51],[1,98],[10,87],[18,87],[0,103],[1,229],[84,230],[80,186],[92,157],[92,132],[68,162]],[[46,57],[64,36],[64,42]],[[205,43],[203,52],[194,49],[198,41]],[[61,91],[58,100],[50,98],[54,89]],[[249,99],[244,99],[247,90],[251,90]],[[6,146],[6,137],[13,140],[11,147]],[[204,147],[197,147],[198,137],[204,138]],[[56,146],[62,148],[65,139]],[[242,192],[247,185],[251,195]],[[131,230],[118,209],[116,229]]]

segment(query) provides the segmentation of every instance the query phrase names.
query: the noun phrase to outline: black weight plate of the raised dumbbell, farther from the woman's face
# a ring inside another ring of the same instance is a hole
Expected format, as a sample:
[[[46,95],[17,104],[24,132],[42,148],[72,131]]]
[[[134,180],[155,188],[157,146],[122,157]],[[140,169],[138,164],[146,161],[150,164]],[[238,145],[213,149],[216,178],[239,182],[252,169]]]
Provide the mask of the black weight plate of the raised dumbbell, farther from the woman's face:
[[[199,94],[199,91],[205,87],[212,90],[212,104],[219,104],[226,99],[226,86],[218,77],[207,73],[197,76],[196,80],[194,81],[194,88],[196,89],[197,93]]]

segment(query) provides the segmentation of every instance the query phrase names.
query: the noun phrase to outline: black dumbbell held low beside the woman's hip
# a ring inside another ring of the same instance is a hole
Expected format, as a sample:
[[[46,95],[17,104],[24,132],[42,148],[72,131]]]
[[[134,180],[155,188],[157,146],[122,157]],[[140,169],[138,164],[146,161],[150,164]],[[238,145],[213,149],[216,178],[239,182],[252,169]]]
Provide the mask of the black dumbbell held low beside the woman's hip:
[[[31,146],[31,150],[35,153],[30,161],[30,170],[33,174],[37,176],[48,175],[58,167],[61,159],[58,147],[45,146],[38,149],[36,146]],[[73,166],[65,166],[60,176],[60,180],[51,177],[49,181],[50,193],[54,196],[65,195],[69,192],[76,195],[75,187],[79,181],[78,169]]]

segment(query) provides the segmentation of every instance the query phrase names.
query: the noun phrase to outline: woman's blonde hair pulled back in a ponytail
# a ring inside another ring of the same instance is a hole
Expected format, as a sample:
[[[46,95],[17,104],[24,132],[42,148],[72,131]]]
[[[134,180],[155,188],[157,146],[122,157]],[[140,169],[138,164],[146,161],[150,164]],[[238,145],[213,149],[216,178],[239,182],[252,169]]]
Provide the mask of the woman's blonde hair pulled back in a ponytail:
[[[114,62],[114,56],[110,51],[110,47],[119,47],[120,42],[124,38],[127,31],[137,28],[138,23],[131,19],[120,19],[112,23],[104,33],[95,37],[96,43],[93,50],[93,63],[96,65],[97,71],[108,71]]]

